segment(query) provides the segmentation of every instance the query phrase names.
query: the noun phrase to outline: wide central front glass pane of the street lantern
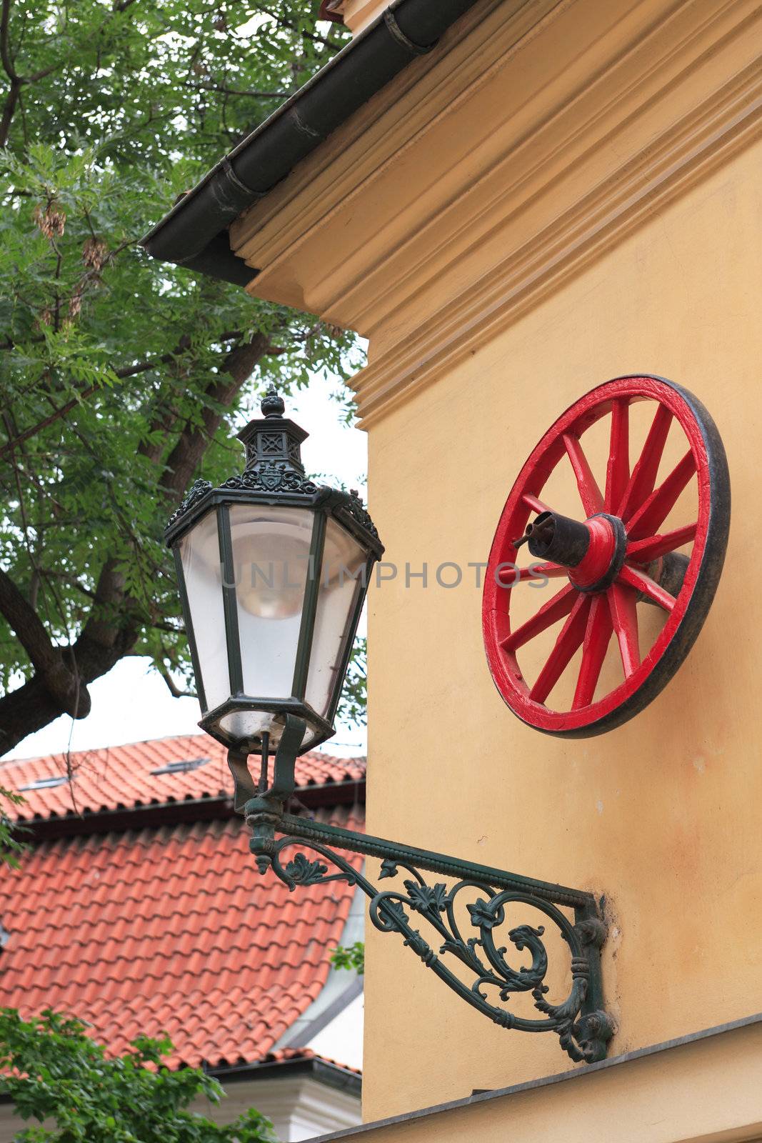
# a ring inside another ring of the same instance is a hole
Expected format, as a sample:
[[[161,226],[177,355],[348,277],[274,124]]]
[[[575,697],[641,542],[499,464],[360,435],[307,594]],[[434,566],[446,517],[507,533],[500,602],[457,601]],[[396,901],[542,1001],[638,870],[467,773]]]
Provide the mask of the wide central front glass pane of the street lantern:
[[[254,698],[291,694],[312,522],[308,509],[231,505],[243,693]]]

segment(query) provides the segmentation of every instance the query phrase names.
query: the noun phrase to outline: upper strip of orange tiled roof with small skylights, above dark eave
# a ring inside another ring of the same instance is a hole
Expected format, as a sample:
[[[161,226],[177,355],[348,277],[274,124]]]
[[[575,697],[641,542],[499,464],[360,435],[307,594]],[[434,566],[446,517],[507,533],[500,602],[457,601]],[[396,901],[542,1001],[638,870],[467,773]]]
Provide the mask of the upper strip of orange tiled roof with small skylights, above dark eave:
[[[66,757],[7,759],[0,762],[0,786],[21,790],[26,804],[19,818],[97,813],[151,804],[230,797],[232,780],[225,748],[207,734],[136,742],[128,746],[72,753],[73,780],[62,785],[24,790],[34,782],[66,775]],[[155,774],[174,762],[208,759],[198,769]],[[363,758],[332,758],[312,751],[296,764],[300,786],[364,781]]]

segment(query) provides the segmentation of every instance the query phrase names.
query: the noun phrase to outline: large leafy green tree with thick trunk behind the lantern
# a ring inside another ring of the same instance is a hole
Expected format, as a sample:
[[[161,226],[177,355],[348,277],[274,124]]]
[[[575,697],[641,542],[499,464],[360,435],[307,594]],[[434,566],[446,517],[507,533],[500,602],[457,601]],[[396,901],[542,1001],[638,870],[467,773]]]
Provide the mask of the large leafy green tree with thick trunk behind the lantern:
[[[0,753],[122,656],[190,678],[162,528],[352,337],[136,242],[340,46],[313,0],[1,0]]]

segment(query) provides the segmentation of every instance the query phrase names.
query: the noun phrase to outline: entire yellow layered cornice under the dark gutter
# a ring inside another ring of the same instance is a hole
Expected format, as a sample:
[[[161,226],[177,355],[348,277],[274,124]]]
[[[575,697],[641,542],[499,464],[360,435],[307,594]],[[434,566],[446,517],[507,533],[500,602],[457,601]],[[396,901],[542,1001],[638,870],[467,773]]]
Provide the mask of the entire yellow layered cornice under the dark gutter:
[[[486,0],[460,24],[231,230],[251,294],[369,337],[366,426],[762,129],[756,0]]]

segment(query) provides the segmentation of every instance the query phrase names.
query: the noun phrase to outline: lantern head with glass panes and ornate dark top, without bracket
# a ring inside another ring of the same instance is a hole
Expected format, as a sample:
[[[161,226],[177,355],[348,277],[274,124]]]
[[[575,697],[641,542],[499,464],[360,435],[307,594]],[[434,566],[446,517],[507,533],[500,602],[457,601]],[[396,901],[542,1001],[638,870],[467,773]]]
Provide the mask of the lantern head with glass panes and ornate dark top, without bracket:
[[[243,753],[334,734],[374,562],[384,549],[355,491],[308,480],[307,433],[271,386],[238,434],[246,469],[196,480],[167,525],[201,703],[200,726]],[[290,716],[290,722],[289,722]],[[299,720],[298,724],[295,720]]]

